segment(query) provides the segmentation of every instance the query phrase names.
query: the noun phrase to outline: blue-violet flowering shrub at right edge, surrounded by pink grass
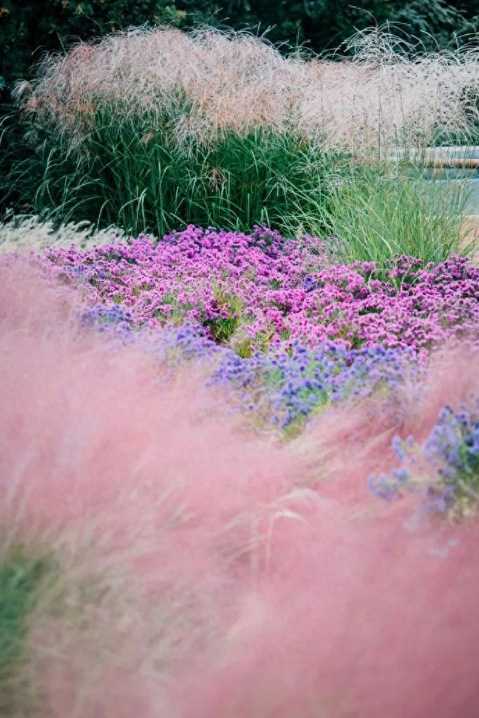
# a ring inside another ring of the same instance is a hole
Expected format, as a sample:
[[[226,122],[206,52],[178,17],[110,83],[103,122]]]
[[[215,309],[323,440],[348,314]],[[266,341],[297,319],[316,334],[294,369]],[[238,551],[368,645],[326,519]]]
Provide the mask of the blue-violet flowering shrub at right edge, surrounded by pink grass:
[[[401,467],[391,475],[371,475],[371,492],[392,500],[420,491],[429,508],[450,516],[468,516],[479,499],[479,413],[445,406],[426,441],[392,440]]]

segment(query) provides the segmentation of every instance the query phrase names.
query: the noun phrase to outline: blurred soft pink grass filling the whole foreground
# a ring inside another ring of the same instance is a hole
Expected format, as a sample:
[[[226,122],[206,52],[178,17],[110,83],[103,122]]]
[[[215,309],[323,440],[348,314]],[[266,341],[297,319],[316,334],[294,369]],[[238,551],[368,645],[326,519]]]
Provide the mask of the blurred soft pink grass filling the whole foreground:
[[[167,380],[80,334],[26,264],[0,279],[1,549],[62,567],[29,619],[35,715],[479,715],[478,525],[366,487],[391,434],[422,439],[478,391],[470,349],[438,355],[421,395],[279,444],[226,414],[203,367]]]

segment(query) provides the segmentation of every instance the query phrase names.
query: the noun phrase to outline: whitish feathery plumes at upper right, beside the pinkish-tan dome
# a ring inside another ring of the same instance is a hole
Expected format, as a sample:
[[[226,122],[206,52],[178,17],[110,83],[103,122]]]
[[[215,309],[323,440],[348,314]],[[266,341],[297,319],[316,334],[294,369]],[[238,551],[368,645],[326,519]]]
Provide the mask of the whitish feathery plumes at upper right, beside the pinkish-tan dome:
[[[443,144],[477,139],[477,47],[424,52],[389,26],[358,32],[345,44],[351,60],[307,65],[308,92],[300,115],[310,133],[326,131],[333,145],[388,159],[410,157],[439,136]],[[338,57],[338,55],[336,55]]]

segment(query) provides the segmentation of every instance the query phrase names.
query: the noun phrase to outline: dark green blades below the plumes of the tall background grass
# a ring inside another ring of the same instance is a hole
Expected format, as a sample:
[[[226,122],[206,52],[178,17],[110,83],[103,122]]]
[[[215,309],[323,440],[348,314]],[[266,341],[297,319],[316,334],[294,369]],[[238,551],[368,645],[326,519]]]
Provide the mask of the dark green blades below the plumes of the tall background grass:
[[[74,151],[66,134],[44,130],[0,191],[14,188],[17,205],[57,224],[90,220],[157,236],[190,223],[250,230],[266,222],[284,230],[299,192],[305,210],[327,201],[335,158],[321,146],[270,129],[180,146],[169,119],[103,108]]]

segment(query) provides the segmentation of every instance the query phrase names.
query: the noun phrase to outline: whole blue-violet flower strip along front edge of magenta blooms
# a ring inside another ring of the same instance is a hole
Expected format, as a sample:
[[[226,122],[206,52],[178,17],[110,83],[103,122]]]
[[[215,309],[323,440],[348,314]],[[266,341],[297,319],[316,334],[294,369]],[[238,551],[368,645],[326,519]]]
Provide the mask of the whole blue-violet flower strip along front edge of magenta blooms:
[[[322,342],[308,349],[295,341],[290,352],[256,352],[245,359],[212,342],[201,325],[133,331],[130,318],[130,312],[116,305],[97,304],[80,312],[81,325],[107,333],[117,346],[136,341],[174,367],[185,360],[207,360],[210,386],[225,388],[238,408],[254,409],[256,419],[261,416],[264,423],[280,429],[301,426],[323,406],[375,391],[394,391],[406,378],[417,379],[422,371],[413,350],[381,345],[355,350]]]

